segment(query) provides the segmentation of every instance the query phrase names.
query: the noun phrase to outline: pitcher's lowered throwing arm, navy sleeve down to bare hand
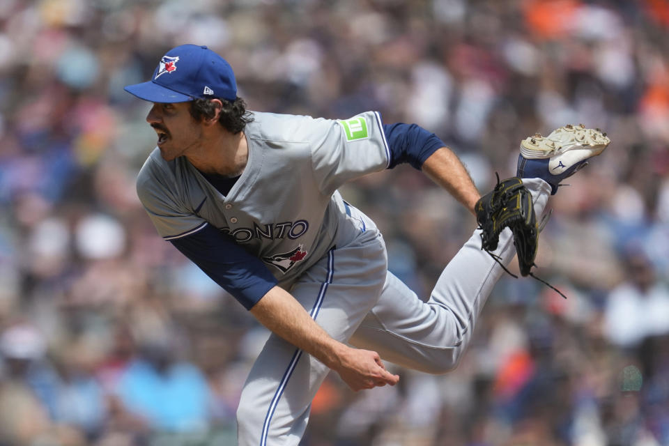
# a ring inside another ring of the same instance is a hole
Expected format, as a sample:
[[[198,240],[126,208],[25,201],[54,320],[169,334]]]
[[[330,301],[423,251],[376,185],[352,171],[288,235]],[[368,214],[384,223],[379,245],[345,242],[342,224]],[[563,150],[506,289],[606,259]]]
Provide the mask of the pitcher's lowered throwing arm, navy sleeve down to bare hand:
[[[337,371],[351,389],[394,385],[399,380],[399,376],[385,370],[378,353],[332,339],[293,295],[276,286],[276,279],[262,261],[217,229],[205,226],[170,241],[261,324]]]

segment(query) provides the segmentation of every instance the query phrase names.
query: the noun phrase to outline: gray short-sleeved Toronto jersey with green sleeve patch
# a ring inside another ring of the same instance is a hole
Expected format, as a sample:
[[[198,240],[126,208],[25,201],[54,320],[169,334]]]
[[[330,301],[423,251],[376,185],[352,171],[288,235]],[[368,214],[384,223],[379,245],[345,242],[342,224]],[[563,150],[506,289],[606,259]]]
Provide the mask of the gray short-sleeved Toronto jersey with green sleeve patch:
[[[254,112],[245,128],[249,157],[223,196],[185,157],[156,148],[137,192],[165,240],[212,224],[258,256],[282,285],[325,256],[346,204],[337,187],[385,169],[390,153],[380,116],[345,121]]]

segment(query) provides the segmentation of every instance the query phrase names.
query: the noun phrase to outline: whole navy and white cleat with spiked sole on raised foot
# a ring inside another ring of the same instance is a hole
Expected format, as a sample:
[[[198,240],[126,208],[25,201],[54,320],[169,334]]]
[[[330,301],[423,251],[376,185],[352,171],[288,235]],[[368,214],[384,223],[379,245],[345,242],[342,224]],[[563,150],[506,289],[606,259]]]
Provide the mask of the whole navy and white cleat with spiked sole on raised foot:
[[[601,130],[585,125],[567,124],[553,130],[547,137],[535,133],[521,141],[518,155],[520,178],[541,178],[557,192],[560,182],[587,165],[587,159],[604,151],[611,140]]]

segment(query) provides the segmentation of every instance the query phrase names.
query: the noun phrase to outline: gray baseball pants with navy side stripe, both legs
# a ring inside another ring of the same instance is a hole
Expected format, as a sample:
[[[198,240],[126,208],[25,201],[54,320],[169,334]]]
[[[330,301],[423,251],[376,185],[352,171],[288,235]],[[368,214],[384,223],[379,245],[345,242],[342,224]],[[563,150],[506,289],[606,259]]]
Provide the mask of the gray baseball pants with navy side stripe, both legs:
[[[543,213],[551,187],[523,180],[535,213]],[[351,208],[335,243],[290,290],[334,339],[377,351],[383,360],[429,374],[454,369],[502,268],[481,249],[475,231],[441,273],[424,302],[387,271],[383,238],[374,222]],[[364,229],[364,230],[363,230]],[[508,264],[515,249],[509,229],[495,254]],[[240,446],[298,445],[311,402],[330,369],[275,334],[244,385],[237,410]]]

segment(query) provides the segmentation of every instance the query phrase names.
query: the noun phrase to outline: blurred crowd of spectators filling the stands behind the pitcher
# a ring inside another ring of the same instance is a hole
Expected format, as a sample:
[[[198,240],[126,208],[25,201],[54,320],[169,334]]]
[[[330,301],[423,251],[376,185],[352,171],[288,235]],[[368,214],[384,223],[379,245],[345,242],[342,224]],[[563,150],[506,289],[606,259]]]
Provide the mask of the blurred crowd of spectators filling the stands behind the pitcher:
[[[155,132],[123,86],[183,43],[250,109],[419,123],[482,191],[535,132],[613,141],[549,202],[537,275],[569,299],[503,277],[456,371],[330,376],[303,445],[669,445],[666,0],[2,0],[1,446],[235,442],[267,332],[134,191]],[[421,295],[475,226],[406,165],[342,193]]]

